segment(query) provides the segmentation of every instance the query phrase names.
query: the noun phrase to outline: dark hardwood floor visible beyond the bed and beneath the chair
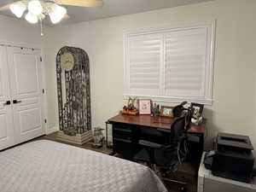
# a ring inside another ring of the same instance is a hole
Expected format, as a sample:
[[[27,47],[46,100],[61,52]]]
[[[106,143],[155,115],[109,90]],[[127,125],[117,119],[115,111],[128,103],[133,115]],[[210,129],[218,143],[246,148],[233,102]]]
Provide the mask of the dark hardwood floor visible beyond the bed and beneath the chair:
[[[45,135],[43,137],[35,138],[32,141],[41,140],[41,139],[47,139],[47,140],[55,141],[58,143],[65,143],[65,144],[73,145],[78,148],[84,148],[84,149],[100,152],[102,154],[111,154],[113,152],[112,148],[106,147],[106,143],[102,148],[91,148],[91,144],[92,144],[91,142],[85,143],[84,145],[63,142],[61,140],[58,140],[58,138],[56,138],[56,132],[51,133],[49,135]],[[119,154],[117,154],[116,156],[121,157]],[[195,170],[195,166],[189,164],[188,162],[185,162],[177,172],[172,172],[170,174],[170,178],[188,183],[188,192],[196,192],[197,191],[196,172],[197,171]],[[166,188],[168,189],[169,192],[180,192],[180,187],[181,186],[179,184],[166,183]]]

